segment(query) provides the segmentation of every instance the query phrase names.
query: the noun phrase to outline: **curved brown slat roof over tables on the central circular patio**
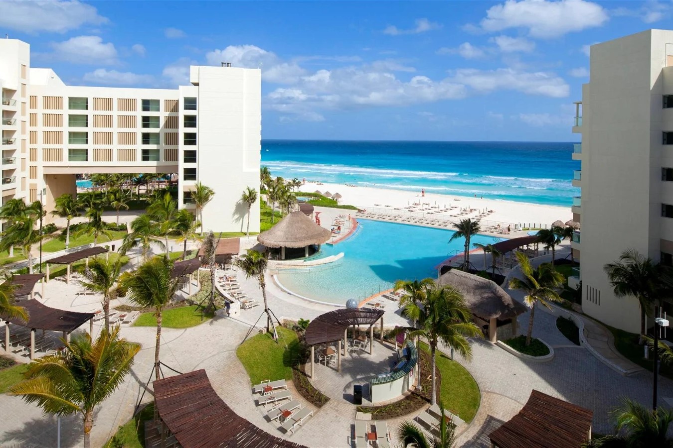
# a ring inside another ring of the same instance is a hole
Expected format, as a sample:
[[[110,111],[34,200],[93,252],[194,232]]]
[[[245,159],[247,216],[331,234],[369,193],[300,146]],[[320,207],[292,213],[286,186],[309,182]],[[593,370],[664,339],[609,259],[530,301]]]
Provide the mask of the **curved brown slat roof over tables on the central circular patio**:
[[[306,328],[306,343],[318,345],[343,339],[343,330],[351,325],[371,325],[384,314],[384,310],[374,308],[341,308],[320,314]]]

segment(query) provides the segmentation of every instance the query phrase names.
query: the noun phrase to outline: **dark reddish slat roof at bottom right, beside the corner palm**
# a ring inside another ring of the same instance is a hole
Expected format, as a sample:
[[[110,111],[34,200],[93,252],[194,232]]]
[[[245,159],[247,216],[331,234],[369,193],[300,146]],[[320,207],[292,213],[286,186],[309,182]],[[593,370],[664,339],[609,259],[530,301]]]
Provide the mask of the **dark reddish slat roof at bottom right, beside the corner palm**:
[[[579,448],[589,439],[594,412],[542,394],[489,435],[498,448]]]

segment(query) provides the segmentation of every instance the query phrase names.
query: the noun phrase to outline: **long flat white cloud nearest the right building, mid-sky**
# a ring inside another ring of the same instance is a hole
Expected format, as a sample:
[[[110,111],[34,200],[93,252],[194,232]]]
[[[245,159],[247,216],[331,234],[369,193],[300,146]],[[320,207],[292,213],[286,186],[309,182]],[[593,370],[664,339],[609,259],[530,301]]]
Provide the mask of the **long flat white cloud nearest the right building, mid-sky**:
[[[458,69],[451,78],[455,83],[472,87],[480,93],[496,90],[514,90],[528,95],[563,98],[570,87],[554,73],[525,72],[514,69],[477,70]]]

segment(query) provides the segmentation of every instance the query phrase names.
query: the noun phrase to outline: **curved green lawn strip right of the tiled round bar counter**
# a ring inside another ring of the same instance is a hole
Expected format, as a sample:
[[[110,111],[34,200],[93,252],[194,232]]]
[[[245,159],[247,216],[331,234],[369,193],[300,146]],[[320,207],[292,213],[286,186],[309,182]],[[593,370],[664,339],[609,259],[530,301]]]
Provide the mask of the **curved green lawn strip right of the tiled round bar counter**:
[[[430,347],[425,343],[421,343],[421,350],[430,353]],[[481,401],[479,386],[465,367],[451,361],[444,353],[437,352],[436,362],[441,374],[439,399],[447,410],[458,414],[466,422],[471,422]]]

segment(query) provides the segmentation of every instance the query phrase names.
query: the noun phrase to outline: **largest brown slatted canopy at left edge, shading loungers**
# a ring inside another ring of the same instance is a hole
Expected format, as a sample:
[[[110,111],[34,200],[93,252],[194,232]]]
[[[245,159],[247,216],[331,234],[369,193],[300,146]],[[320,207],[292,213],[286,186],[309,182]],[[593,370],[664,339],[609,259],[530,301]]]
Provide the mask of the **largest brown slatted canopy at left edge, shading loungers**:
[[[37,330],[71,332],[94,317],[94,313],[80,313],[50,308],[34,299],[26,300],[25,302],[21,301],[17,304],[28,311],[28,322],[21,318],[7,318],[6,316],[2,316],[2,319],[28,328],[36,328]]]

